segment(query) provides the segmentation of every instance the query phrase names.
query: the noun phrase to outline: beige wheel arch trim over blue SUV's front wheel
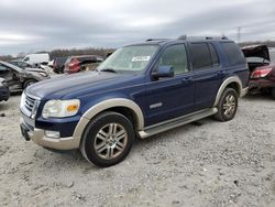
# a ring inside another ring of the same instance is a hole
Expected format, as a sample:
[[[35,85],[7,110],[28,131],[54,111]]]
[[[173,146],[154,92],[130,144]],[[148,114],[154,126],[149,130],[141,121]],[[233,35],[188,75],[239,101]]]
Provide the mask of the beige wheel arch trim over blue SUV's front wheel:
[[[134,101],[125,98],[113,98],[113,99],[108,99],[105,101],[101,101],[95,106],[92,106],[89,110],[87,110],[79,122],[76,126],[75,132],[74,132],[74,138],[81,139],[81,134],[86,128],[86,126],[89,123],[89,121],[100,113],[103,110],[113,108],[113,107],[125,107],[128,109],[131,109],[135,116],[135,119],[138,120],[138,130],[143,130],[144,128],[144,116],[139,107]]]

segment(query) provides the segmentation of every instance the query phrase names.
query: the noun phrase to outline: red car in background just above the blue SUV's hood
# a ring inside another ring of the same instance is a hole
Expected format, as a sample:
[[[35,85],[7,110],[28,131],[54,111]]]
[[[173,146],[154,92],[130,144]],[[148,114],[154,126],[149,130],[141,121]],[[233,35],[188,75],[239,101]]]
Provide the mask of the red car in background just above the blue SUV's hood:
[[[64,73],[74,74],[81,70],[94,70],[103,58],[97,55],[82,55],[68,57]]]

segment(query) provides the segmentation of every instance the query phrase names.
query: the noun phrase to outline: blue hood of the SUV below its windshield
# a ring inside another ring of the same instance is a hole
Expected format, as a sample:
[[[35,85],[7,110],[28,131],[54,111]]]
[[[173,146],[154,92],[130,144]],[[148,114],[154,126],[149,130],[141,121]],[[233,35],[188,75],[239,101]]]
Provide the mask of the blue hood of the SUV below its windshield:
[[[40,99],[77,98],[79,95],[101,92],[113,89],[116,85],[132,81],[133,75],[121,75],[102,72],[85,72],[73,75],[61,75],[40,81],[26,88],[26,94]]]

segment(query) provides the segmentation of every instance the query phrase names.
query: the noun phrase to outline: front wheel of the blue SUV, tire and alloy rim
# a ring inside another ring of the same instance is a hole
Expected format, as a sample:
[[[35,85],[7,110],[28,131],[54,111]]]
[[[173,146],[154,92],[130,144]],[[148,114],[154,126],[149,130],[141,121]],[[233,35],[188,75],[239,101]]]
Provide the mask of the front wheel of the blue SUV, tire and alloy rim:
[[[129,119],[121,113],[107,111],[90,121],[84,132],[80,151],[92,164],[107,167],[127,157],[133,140],[134,129]]]

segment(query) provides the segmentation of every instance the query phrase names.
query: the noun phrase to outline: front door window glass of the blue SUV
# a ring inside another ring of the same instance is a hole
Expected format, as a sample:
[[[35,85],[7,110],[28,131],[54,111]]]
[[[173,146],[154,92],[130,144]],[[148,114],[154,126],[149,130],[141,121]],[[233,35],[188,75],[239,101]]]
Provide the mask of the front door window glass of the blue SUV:
[[[187,73],[189,69],[185,45],[167,47],[158,61],[160,66],[173,66],[175,75]]]

